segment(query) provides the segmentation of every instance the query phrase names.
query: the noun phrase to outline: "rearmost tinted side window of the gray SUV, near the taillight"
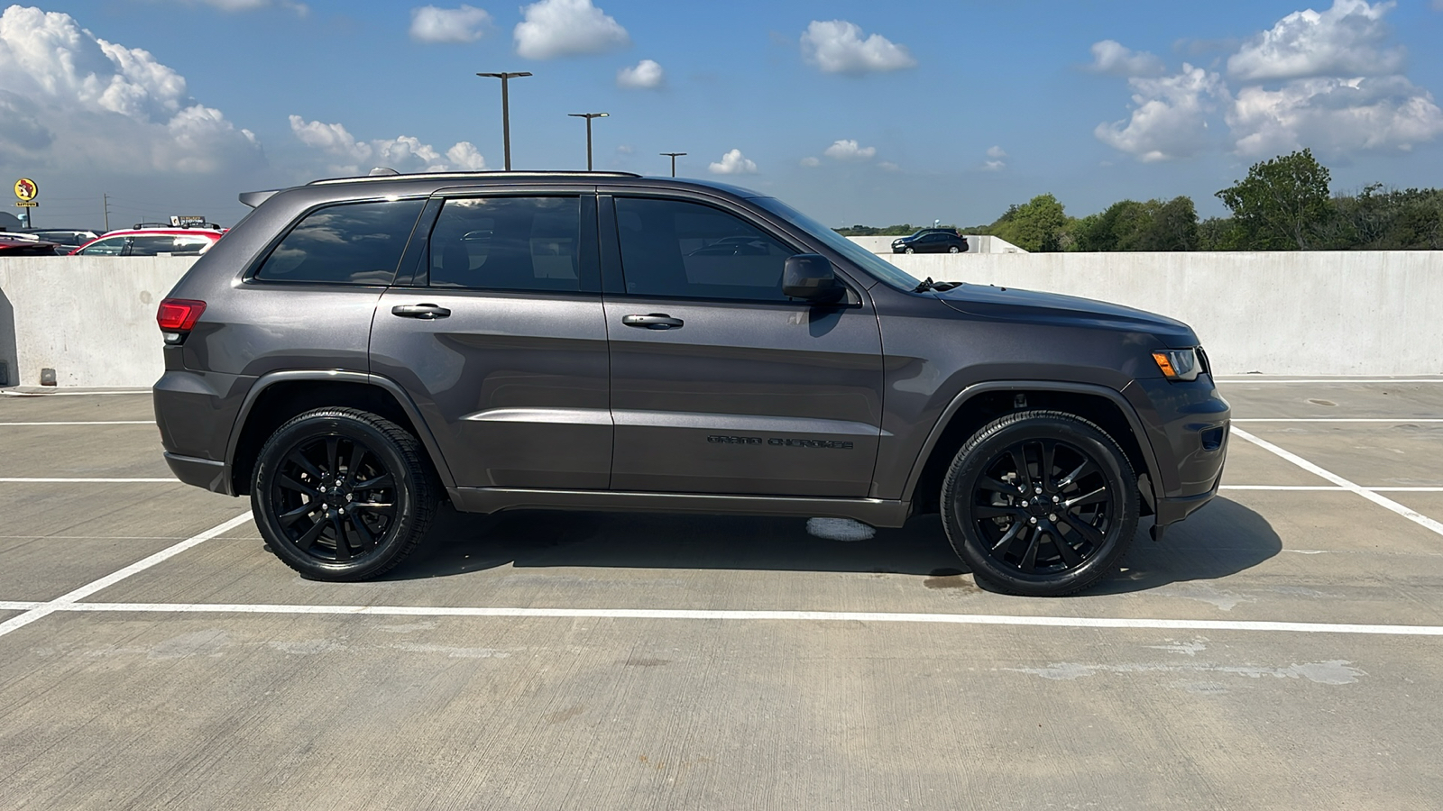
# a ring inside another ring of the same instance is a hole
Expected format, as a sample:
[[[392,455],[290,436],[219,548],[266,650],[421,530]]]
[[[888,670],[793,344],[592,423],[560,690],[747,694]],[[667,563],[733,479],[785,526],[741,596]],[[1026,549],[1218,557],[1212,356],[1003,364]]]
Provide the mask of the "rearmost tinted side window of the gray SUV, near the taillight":
[[[300,221],[255,271],[263,281],[390,284],[426,201],[333,205]]]

